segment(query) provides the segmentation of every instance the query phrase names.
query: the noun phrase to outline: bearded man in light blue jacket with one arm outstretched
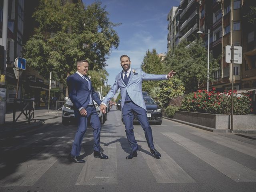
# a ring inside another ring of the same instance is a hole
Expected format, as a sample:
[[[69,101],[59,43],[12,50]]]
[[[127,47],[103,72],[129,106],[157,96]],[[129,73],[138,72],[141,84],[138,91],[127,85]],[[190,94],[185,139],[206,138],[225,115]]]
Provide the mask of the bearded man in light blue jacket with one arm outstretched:
[[[148,123],[146,106],[142,96],[142,81],[166,80],[172,77],[175,72],[171,71],[167,75],[147,74],[140,68],[130,68],[131,61],[127,55],[122,55],[120,60],[123,70],[116,76],[116,81],[102,101],[100,108],[102,111],[105,111],[106,103],[116,94],[116,91],[120,88],[121,108],[126,129],[125,132],[131,147],[131,152],[126,157],[126,159],[132,159],[136,157],[138,150],[138,144],[135,140],[133,132],[133,113],[136,114],[138,121],[140,122],[145,132],[145,137],[148,143],[148,147],[150,148],[150,152],[154,155],[155,158],[160,158],[161,154],[154,147],[152,130]]]

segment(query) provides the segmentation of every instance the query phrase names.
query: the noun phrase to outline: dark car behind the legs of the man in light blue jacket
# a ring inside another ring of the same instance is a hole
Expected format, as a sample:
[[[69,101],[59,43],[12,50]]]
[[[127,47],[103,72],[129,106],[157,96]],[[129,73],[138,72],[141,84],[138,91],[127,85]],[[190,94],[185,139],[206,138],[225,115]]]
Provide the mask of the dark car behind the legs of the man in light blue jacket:
[[[155,102],[151,96],[143,96],[143,99],[147,109],[148,122],[161,125],[163,114],[160,106],[158,106],[159,103]],[[122,116],[122,122],[123,122],[123,116]],[[133,122],[138,123],[138,119],[135,113],[134,113]]]

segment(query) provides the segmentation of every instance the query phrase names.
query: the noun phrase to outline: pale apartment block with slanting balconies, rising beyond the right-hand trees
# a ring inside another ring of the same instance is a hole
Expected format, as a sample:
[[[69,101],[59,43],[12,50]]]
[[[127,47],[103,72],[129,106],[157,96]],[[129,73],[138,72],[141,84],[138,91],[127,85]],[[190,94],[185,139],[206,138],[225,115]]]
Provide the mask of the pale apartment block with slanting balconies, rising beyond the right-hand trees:
[[[172,7],[168,23],[168,51],[182,40],[193,41],[199,28],[199,4],[197,0],[181,0],[178,7]]]

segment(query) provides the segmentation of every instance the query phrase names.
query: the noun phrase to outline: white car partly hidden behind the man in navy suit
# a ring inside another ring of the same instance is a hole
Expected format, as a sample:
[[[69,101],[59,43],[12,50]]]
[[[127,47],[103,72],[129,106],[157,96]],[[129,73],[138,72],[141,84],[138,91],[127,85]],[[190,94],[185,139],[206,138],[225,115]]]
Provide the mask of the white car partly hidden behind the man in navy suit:
[[[102,99],[102,98],[101,98]],[[94,105],[96,107],[96,111],[98,113],[98,116],[100,118],[100,123],[104,124],[104,122],[107,120],[107,113],[104,114],[100,111],[100,106],[94,102]],[[67,125],[69,122],[72,122],[75,120],[75,114],[74,114],[74,105],[70,99],[68,99],[65,104],[62,106],[62,124]]]

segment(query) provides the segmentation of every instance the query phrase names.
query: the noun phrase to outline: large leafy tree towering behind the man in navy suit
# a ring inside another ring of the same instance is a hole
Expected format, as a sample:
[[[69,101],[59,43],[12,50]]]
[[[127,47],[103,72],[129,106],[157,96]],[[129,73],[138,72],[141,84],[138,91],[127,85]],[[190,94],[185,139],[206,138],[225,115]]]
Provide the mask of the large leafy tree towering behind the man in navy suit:
[[[81,1],[41,0],[33,14],[38,28],[24,45],[28,66],[45,78],[52,72],[61,82],[76,71],[78,59],[87,59],[92,71],[102,70],[111,48],[119,45],[113,29],[118,24],[110,22],[105,9],[100,2],[84,8]]]

